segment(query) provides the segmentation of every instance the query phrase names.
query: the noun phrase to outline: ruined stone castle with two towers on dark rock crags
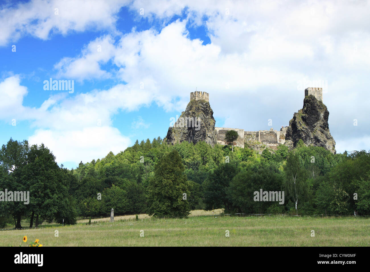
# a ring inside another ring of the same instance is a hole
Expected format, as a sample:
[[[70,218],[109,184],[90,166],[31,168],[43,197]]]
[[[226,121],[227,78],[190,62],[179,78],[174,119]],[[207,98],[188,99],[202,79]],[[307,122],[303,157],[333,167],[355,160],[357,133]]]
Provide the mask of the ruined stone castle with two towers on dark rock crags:
[[[194,100],[206,103],[192,103]],[[193,127],[178,128],[174,125],[174,127],[169,128],[166,138],[172,144],[186,140],[194,144],[198,141],[206,141],[212,146],[216,143],[226,145],[226,133],[235,130],[238,133],[238,139],[233,144],[240,148],[248,146],[251,149],[259,150],[259,152],[262,152],[266,147],[276,150],[280,144],[285,144],[292,148],[296,145],[298,138],[303,138],[305,144],[322,146],[335,154],[335,141],[330,135],[327,123],[329,111],[327,111],[322,100],[322,88],[306,88],[303,109],[299,110],[300,114],[294,114],[293,119],[289,122],[289,126],[282,127],[279,131],[273,128],[269,130],[245,131],[240,128],[215,127],[213,111],[209,105],[209,94],[195,91],[190,93],[190,102],[186,110],[182,112],[181,117],[196,116],[198,119],[200,117],[202,120],[201,131],[194,130]],[[319,110],[319,114],[317,110]],[[301,120],[300,118],[303,119]]]

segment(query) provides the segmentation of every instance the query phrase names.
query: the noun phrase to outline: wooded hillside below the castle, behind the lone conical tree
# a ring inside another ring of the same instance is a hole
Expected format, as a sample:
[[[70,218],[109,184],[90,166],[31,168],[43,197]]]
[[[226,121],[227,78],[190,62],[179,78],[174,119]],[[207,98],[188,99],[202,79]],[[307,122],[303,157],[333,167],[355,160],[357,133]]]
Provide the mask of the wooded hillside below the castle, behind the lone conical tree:
[[[160,137],[152,142],[149,139],[140,144],[136,141],[117,155],[110,152],[103,159],[81,163],[73,170],[77,184],[71,193],[80,203],[91,201],[98,206],[98,201],[95,201],[98,192],[107,188],[104,194],[107,197],[116,190],[127,199],[127,204],[122,203],[122,208],[117,209],[118,214],[145,212],[148,180],[154,176],[158,161],[173,150],[178,152],[185,168],[191,209],[226,208],[244,213],[299,214],[353,214],[356,209],[369,214],[369,208],[362,206],[364,202],[353,199],[353,192],[361,190],[361,186],[369,182],[369,153],[334,155],[322,147],[306,147],[303,142],[290,152],[299,160],[304,176],[297,211],[289,192],[285,193],[284,205],[253,201],[253,192],[260,188],[267,191],[286,189],[289,151],[284,145],[280,145],[277,151],[266,149],[259,155],[248,148],[234,147],[232,152],[229,146],[215,145],[212,148],[205,142],[194,145],[184,141],[168,145]],[[362,179],[364,183],[361,185]],[[115,185],[114,189],[112,185]],[[83,208],[79,213],[84,216],[108,214],[112,203],[107,198],[105,203],[101,210],[97,208],[96,213],[90,211],[89,214]]]

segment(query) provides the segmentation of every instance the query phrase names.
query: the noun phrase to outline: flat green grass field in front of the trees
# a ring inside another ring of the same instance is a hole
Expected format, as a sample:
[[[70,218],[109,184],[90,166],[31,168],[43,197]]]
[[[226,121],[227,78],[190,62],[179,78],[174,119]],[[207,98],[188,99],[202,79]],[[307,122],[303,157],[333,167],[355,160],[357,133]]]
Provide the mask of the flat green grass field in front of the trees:
[[[55,230],[58,237],[54,236]],[[141,230],[144,237],[140,236]],[[225,236],[226,230],[229,237]],[[314,237],[311,230],[315,231]],[[220,215],[122,219],[0,231],[0,246],[23,244],[24,235],[28,241],[40,239],[43,246],[370,246],[370,219]]]

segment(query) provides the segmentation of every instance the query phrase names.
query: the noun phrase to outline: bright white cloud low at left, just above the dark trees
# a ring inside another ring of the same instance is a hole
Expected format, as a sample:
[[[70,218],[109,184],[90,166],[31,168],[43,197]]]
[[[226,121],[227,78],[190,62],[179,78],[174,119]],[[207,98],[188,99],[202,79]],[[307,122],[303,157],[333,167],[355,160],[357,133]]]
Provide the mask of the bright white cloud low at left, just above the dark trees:
[[[127,85],[116,85],[108,90],[93,90],[75,96],[50,96],[39,108],[23,105],[27,88],[20,85],[19,75],[0,82],[0,118],[10,121],[28,120],[36,131],[28,140],[31,144],[44,143],[57,162],[78,164],[81,159],[91,161],[109,151],[125,150],[131,140],[112,127],[112,115],[119,109],[134,110],[145,101]],[[149,103],[153,97],[145,90],[141,96]],[[139,120],[140,121],[140,120]],[[139,126],[146,126],[141,120]]]

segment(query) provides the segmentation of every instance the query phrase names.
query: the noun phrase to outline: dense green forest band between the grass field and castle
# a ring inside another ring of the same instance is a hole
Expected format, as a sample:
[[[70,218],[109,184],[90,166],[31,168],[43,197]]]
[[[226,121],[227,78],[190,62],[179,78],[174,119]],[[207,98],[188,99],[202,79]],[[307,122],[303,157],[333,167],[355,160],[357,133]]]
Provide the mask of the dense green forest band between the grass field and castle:
[[[58,166],[44,145],[10,139],[0,152],[0,191],[30,191],[30,203],[0,202],[0,225],[141,214],[186,216],[224,208],[245,214],[370,215],[370,153],[332,154],[300,142],[258,154],[205,142],[169,145],[160,137],[102,159]],[[284,191],[284,204],[254,192]],[[186,198],[184,200],[184,194]],[[28,226],[23,226],[28,227]]]

